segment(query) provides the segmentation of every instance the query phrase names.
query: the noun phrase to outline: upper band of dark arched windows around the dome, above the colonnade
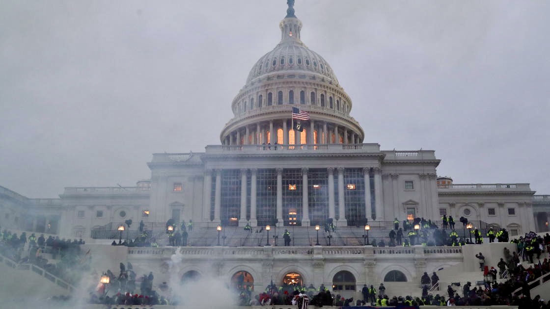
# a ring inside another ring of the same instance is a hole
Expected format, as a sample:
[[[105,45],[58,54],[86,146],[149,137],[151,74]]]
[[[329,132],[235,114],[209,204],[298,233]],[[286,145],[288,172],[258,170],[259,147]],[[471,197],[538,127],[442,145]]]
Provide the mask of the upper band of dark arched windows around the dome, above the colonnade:
[[[327,96],[324,93],[321,93],[321,95],[319,96],[319,100],[317,101],[317,93],[315,91],[311,91],[309,93],[309,101],[306,101],[306,98],[306,92],[304,90],[300,90],[298,97],[295,97],[294,90],[289,90],[287,96],[285,96],[285,93],[283,93],[283,91],[278,91],[276,97],[274,97],[273,92],[268,92],[266,98],[264,98],[263,95],[259,95],[257,96],[256,100],[255,97],[250,97],[248,102],[246,100],[242,101],[240,104],[238,104],[237,111],[235,112],[236,114],[243,114],[246,111],[252,111],[254,109],[273,105],[283,105],[286,103],[311,104],[320,107],[327,107],[329,109],[334,109],[335,111],[348,114],[348,104],[345,104],[343,102],[341,103],[339,98],[334,100],[333,96],[328,96],[327,100]]]

